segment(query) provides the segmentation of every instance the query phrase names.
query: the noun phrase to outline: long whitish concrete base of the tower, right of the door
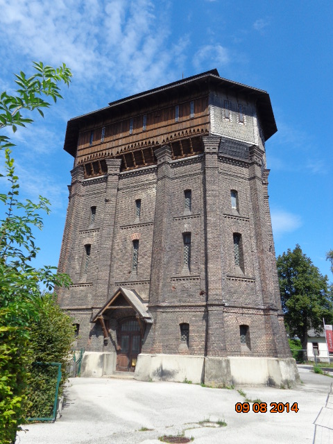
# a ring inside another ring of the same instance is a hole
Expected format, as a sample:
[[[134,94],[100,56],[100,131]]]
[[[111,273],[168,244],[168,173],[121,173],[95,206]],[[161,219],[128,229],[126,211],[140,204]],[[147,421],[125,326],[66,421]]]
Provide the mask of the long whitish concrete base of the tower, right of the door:
[[[140,354],[135,379],[207,385],[269,385],[292,387],[300,382],[293,358],[203,357]]]

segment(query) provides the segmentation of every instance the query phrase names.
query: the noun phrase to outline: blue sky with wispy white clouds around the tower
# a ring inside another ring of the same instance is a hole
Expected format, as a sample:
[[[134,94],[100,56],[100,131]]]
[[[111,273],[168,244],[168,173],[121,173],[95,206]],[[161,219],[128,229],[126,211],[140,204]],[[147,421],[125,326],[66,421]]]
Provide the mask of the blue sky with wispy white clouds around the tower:
[[[217,68],[265,89],[278,133],[266,143],[277,255],[300,244],[327,274],[333,248],[331,0],[0,0],[0,91],[31,61],[73,71],[60,101],[14,137],[22,197],[51,200],[35,265],[58,264],[73,158],[67,120]],[[1,189],[4,182],[0,182]]]

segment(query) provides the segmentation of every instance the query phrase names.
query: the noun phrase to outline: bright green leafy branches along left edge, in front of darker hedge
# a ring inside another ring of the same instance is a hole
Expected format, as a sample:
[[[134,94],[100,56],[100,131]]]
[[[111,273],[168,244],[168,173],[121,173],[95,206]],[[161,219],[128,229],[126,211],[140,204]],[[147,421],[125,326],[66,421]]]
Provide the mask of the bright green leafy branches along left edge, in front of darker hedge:
[[[24,72],[16,76],[19,86],[15,95],[0,94],[0,130],[26,126],[33,120],[26,117],[61,98],[60,83],[69,85],[71,71],[34,62],[35,74],[26,77]],[[24,388],[28,377],[28,365],[33,360],[29,348],[29,325],[39,316],[40,286],[49,290],[55,285],[69,284],[66,275],[54,273],[56,267],[36,269],[31,264],[39,248],[35,246],[33,229],[42,229],[41,211],[49,212],[49,201],[40,196],[38,203],[19,201],[19,182],[15,176],[10,137],[0,134],[0,150],[5,151],[8,192],[0,194],[4,218],[0,221],[0,443],[14,443],[17,428],[23,420]],[[1,175],[3,177],[3,175]]]

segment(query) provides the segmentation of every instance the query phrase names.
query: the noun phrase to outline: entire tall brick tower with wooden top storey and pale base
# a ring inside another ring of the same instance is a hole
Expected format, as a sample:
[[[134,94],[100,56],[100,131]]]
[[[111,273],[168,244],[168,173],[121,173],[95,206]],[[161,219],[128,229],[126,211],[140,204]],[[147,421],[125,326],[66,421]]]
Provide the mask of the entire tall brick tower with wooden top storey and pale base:
[[[268,206],[266,92],[216,69],[67,123],[58,289],[83,374],[293,384]]]

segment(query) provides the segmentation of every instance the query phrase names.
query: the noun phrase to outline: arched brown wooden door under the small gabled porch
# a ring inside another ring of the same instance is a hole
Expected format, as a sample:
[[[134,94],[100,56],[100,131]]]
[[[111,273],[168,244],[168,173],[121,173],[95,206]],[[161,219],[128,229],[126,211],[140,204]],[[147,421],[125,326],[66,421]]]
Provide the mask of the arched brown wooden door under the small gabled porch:
[[[142,336],[137,319],[126,319],[118,330],[118,345],[116,370],[134,372],[137,355],[141,352]]]

